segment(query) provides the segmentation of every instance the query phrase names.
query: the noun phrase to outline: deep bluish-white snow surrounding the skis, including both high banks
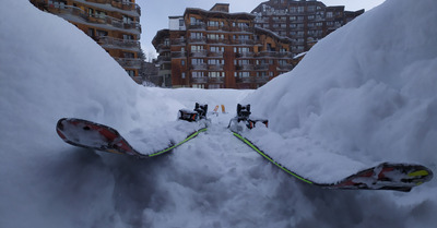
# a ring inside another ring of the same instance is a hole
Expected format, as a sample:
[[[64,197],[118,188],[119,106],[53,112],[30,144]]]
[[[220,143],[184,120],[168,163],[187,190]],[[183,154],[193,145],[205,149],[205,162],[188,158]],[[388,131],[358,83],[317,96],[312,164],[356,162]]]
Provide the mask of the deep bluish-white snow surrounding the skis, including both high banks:
[[[342,170],[380,161],[437,170],[434,0],[387,0],[257,91],[137,85],[73,25],[28,1],[5,1],[0,227],[435,226],[435,180],[410,193],[321,190],[226,131],[236,104],[250,103],[253,115],[269,119],[268,132],[253,131],[267,135],[259,143],[282,164],[312,171],[306,175],[343,175],[307,169],[317,160]],[[228,113],[211,116],[206,132],[156,159],[73,147],[55,131],[58,119],[75,117],[141,140],[196,101],[210,110],[223,104]]]

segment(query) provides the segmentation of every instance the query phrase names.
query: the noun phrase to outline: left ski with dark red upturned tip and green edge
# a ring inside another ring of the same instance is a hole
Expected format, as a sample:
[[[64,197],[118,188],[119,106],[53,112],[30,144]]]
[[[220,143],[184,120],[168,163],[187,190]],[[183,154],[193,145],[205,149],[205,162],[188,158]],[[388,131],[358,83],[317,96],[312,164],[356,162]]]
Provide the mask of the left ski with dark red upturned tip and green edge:
[[[206,131],[206,128],[192,132],[179,143],[170,144],[164,149],[150,154],[142,154],[134,149],[114,128],[88,120],[62,118],[58,121],[56,131],[66,143],[74,146],[115,154],[125,154],[137,158],[150,158],[170,152],[172,149],[192,140],[199,133]]]

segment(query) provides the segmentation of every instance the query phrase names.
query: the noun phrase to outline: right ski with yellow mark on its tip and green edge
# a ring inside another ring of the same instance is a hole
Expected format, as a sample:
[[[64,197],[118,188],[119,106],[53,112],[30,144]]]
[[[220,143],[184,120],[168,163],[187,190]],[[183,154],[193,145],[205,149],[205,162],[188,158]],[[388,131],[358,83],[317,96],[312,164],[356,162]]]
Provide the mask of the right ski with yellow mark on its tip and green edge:
[[[429,168],[422,165],[382,163],[378,166],[351,175],[350,177],[334,183],[318,183],[281,165],[237,132],[233,132],[233,134],[281,170],[303,182],[321,187],[323,189],[394,190],[409,192],[412,188],[432,180],[434,176]]]

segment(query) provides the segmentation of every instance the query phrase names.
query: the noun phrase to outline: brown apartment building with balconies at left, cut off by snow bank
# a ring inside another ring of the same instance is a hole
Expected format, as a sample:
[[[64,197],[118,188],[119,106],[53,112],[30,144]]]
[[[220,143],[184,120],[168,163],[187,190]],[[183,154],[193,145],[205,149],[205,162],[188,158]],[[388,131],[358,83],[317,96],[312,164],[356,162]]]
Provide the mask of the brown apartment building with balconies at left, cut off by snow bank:
[[[29,0],[56,14],[98,43],[131,76],[141,83],[140,15],[134,0]]]

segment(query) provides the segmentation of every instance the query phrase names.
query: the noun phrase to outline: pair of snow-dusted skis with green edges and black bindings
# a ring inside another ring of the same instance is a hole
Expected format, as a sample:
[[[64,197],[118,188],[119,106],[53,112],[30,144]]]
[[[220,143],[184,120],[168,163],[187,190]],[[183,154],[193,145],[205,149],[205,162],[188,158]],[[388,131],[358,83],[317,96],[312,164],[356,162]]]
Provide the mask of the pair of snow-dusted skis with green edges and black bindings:
[[[197,108],[199,108],[197,106]],[[241,110],[237,108],[238,110]],[[196,110],[196,109],[194,109]],[[246,110],[247,111],[247,110]],[[204,111],[205,112],[205,111]],[[200,116],[205,117],[205,113],[201,112]],[[184,112],[185,113],[185,112]],[[237,112],[238,113],[238,112]],[[250,113],[244,112],[247,118]],[[180,119],[184,115],[179,116]],[[189,116],[191,120],[192,116]],[[194,118],[196,119],[196,118]],[[238,118],[234,119],[238,121]],[[247,119],[249,120],[249,119]],[[239,121],[246,121],[239,119]],[[248,121],[250,124],[253,120]],[[261,122],[267,124],[267,120]],[[231,125],[231,123],[229,123]],[[104,151],[116,154],[125,154],[137,158],[150,158],[155,157],[173,151],[174,148],[182,145],[184,143],[192,140],[199,133],[206,131],[206,128],[199,129],[191,134],[187,135],[185,140],[179,143],[168,145],[168,147],[153,152],[151,154],[142,154],[134,149],[119,133],[117,130],[95,123],[87,120],[75,119],[75,118],[62,118],[57,123],[57,133],[66,142],[74,146],[92,148],[97,151]],[[303,176],[292,171],[292,169],[281,165],[274,160],[271,156],[256,146],[248,139],[243,136],[237,131],[233,131],[234,136],[247,144],[250,148],[261,155],[263,158],[269,160],[271,164],[293,176],[294,178],[306,182],[308,184],[321,187],[323,189],[344,189],[344,190],[395,190],[409,192],[412,188],[420,185],[424,182],[429,181],[433,178],[433,171],[421,165],[413,164],[390,164],[382,163],[378,166],[358,171],[350,177],[346,177],[334,183],[318,183],[306,179]]]

